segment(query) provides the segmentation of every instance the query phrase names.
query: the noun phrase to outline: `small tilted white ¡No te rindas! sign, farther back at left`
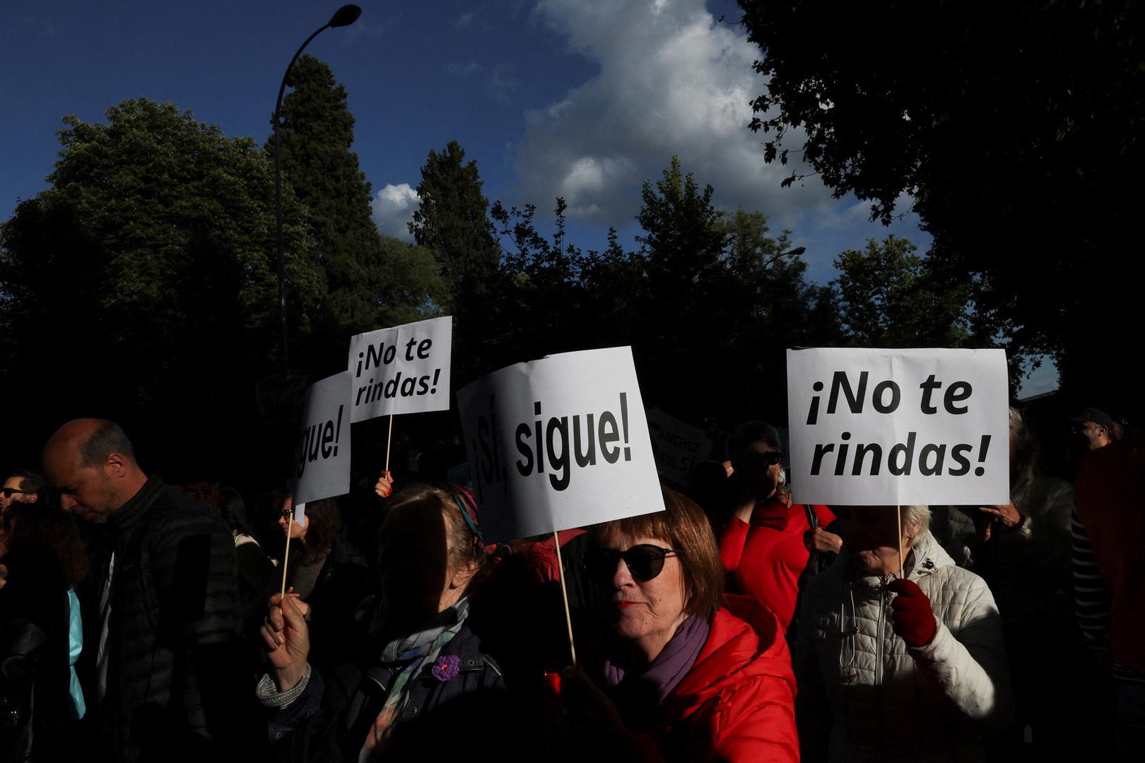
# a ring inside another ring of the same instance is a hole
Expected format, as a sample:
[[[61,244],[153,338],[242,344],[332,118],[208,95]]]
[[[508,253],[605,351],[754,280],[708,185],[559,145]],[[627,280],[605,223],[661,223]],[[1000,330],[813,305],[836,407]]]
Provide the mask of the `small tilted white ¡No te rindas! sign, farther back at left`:
[[[350,337],[350,421],[449,411],[453,318],[433,318]]]

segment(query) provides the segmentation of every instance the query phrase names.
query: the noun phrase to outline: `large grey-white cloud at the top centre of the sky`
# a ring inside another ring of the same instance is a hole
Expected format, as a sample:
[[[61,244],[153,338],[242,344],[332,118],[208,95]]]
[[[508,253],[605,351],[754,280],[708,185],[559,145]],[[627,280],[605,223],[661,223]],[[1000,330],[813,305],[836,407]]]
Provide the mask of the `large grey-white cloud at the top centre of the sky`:
[[[600,72],[527,112],[518,170],[529,200],[564,196],[570,216],[624,225],[640,183],[676,154],[719,206],[765,212],[773,229],[845,212],[814,177],[780,186],[792,165],[765,164],[763,136],[747,128],[765,87],[751,69],[759,50],[703,0],[540,0],[535,13]]]

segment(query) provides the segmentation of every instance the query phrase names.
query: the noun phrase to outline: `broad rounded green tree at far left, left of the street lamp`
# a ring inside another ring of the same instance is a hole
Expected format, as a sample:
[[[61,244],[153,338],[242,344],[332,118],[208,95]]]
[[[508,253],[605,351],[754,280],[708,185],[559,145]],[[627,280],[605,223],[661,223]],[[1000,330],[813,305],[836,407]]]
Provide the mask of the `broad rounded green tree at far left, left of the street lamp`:
[[[276,361],[273,166],[172,104],[105,116],[64,118],[52,188],[0,226],[8,416],[33,443],[68,416],[113,418],[144,453],[174,430],[168,453],[206,470],[250,446],[234,432]],[[322,281],[289,189],[284,208],[299,332]]]

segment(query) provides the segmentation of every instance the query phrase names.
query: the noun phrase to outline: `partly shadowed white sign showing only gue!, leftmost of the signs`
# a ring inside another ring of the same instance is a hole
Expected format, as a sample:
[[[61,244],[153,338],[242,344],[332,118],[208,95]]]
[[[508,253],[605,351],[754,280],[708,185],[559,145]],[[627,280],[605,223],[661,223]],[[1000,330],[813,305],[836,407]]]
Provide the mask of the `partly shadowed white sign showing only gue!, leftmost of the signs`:
[[[306,391],[302,429],[294,448],[294,506],[350,492],[350,373],[327,376]],[[342,437],[346,439],[342,439]]]

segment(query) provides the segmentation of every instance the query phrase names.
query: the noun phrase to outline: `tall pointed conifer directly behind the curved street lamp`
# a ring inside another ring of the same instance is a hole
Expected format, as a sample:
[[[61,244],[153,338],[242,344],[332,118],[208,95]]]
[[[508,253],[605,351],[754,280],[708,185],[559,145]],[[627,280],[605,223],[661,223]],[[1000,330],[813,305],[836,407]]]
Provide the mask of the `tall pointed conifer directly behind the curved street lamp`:
[[[309,212],[311,256],[326,286],[315,331],[297,357],[310,367],[335,367],[350,334],[429,317],[447,294],[431,252],[379,235],[370,183],[350,150],[346,88],[330,66],[302,56],[286,84],[293,90],[283,100],[278,128],[282,172]],[[274,151],[273,137],[267,150]]]

